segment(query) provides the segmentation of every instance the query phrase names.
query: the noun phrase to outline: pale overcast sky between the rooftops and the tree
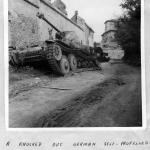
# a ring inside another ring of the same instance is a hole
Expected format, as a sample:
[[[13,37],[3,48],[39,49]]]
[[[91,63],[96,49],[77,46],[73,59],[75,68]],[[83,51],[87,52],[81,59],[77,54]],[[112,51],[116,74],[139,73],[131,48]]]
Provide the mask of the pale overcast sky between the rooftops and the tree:
[[[53,0],[52,0],[53,1]],[[104,22],[113,19],[122,13],[119,6],[123,0],[62,0],[67,6],[68,17],[78,10],[79,16],[85,19],[94,31],[95,41],[101,40],[104,32]]]

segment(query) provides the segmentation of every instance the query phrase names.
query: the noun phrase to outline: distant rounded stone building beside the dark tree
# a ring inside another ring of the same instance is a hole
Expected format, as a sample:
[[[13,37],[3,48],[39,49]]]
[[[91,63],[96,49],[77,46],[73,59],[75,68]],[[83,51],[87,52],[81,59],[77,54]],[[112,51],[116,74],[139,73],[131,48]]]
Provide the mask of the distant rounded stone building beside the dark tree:
[[[111,59],[121,59],[124,56],[124,51],[115,38],[117,25],[118,22],[116,20],[107,20],[105,22],[105,32],[102,34],[102,49],[108,53]]]

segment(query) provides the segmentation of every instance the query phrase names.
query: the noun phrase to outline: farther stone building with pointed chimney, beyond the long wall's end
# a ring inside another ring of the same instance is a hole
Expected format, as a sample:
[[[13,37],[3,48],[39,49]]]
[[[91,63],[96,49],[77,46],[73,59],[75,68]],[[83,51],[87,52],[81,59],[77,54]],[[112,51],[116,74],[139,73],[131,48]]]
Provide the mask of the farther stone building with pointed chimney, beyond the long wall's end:
[[[77,25],[79,25],[85,32],[85,44],[89,45],[91,47],[94,46],[94,41],[93,41],[93,37],[94,37],[94,30],[85,22],[85,20],[83,18],[81,18],[78,15],[78,11],[75,11],[74,16],[71,18],[71,20],[76,23]]]

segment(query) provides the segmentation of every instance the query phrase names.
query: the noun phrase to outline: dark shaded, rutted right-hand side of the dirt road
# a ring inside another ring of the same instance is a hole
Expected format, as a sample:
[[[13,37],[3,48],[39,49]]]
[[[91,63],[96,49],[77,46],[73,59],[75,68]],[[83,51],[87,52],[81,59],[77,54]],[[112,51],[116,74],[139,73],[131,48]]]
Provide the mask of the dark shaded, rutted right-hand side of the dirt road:
[[[134,72],[135,73],[135,72]],[[140,77],[125,70],[41,117],[39,127],[142,126]]]

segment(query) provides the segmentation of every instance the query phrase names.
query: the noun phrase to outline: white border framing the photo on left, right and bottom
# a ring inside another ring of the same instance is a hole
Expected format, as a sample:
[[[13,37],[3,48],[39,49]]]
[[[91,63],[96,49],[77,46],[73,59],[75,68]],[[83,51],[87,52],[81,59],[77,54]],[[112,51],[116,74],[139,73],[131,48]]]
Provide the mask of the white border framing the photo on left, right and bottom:
[[[8,0],[4,4],[4,69],[5,69],[5,126],[7,131],[55,132],[55,131],[135,131],[147,128],[146,118],[146,80],[145,80],[145,46],[144,46],[144,0],[141,0],[141,92],[142,92],[142,127],[71,127],[71,128],[10,128],[9,127],[9,54],[8,54]]]

